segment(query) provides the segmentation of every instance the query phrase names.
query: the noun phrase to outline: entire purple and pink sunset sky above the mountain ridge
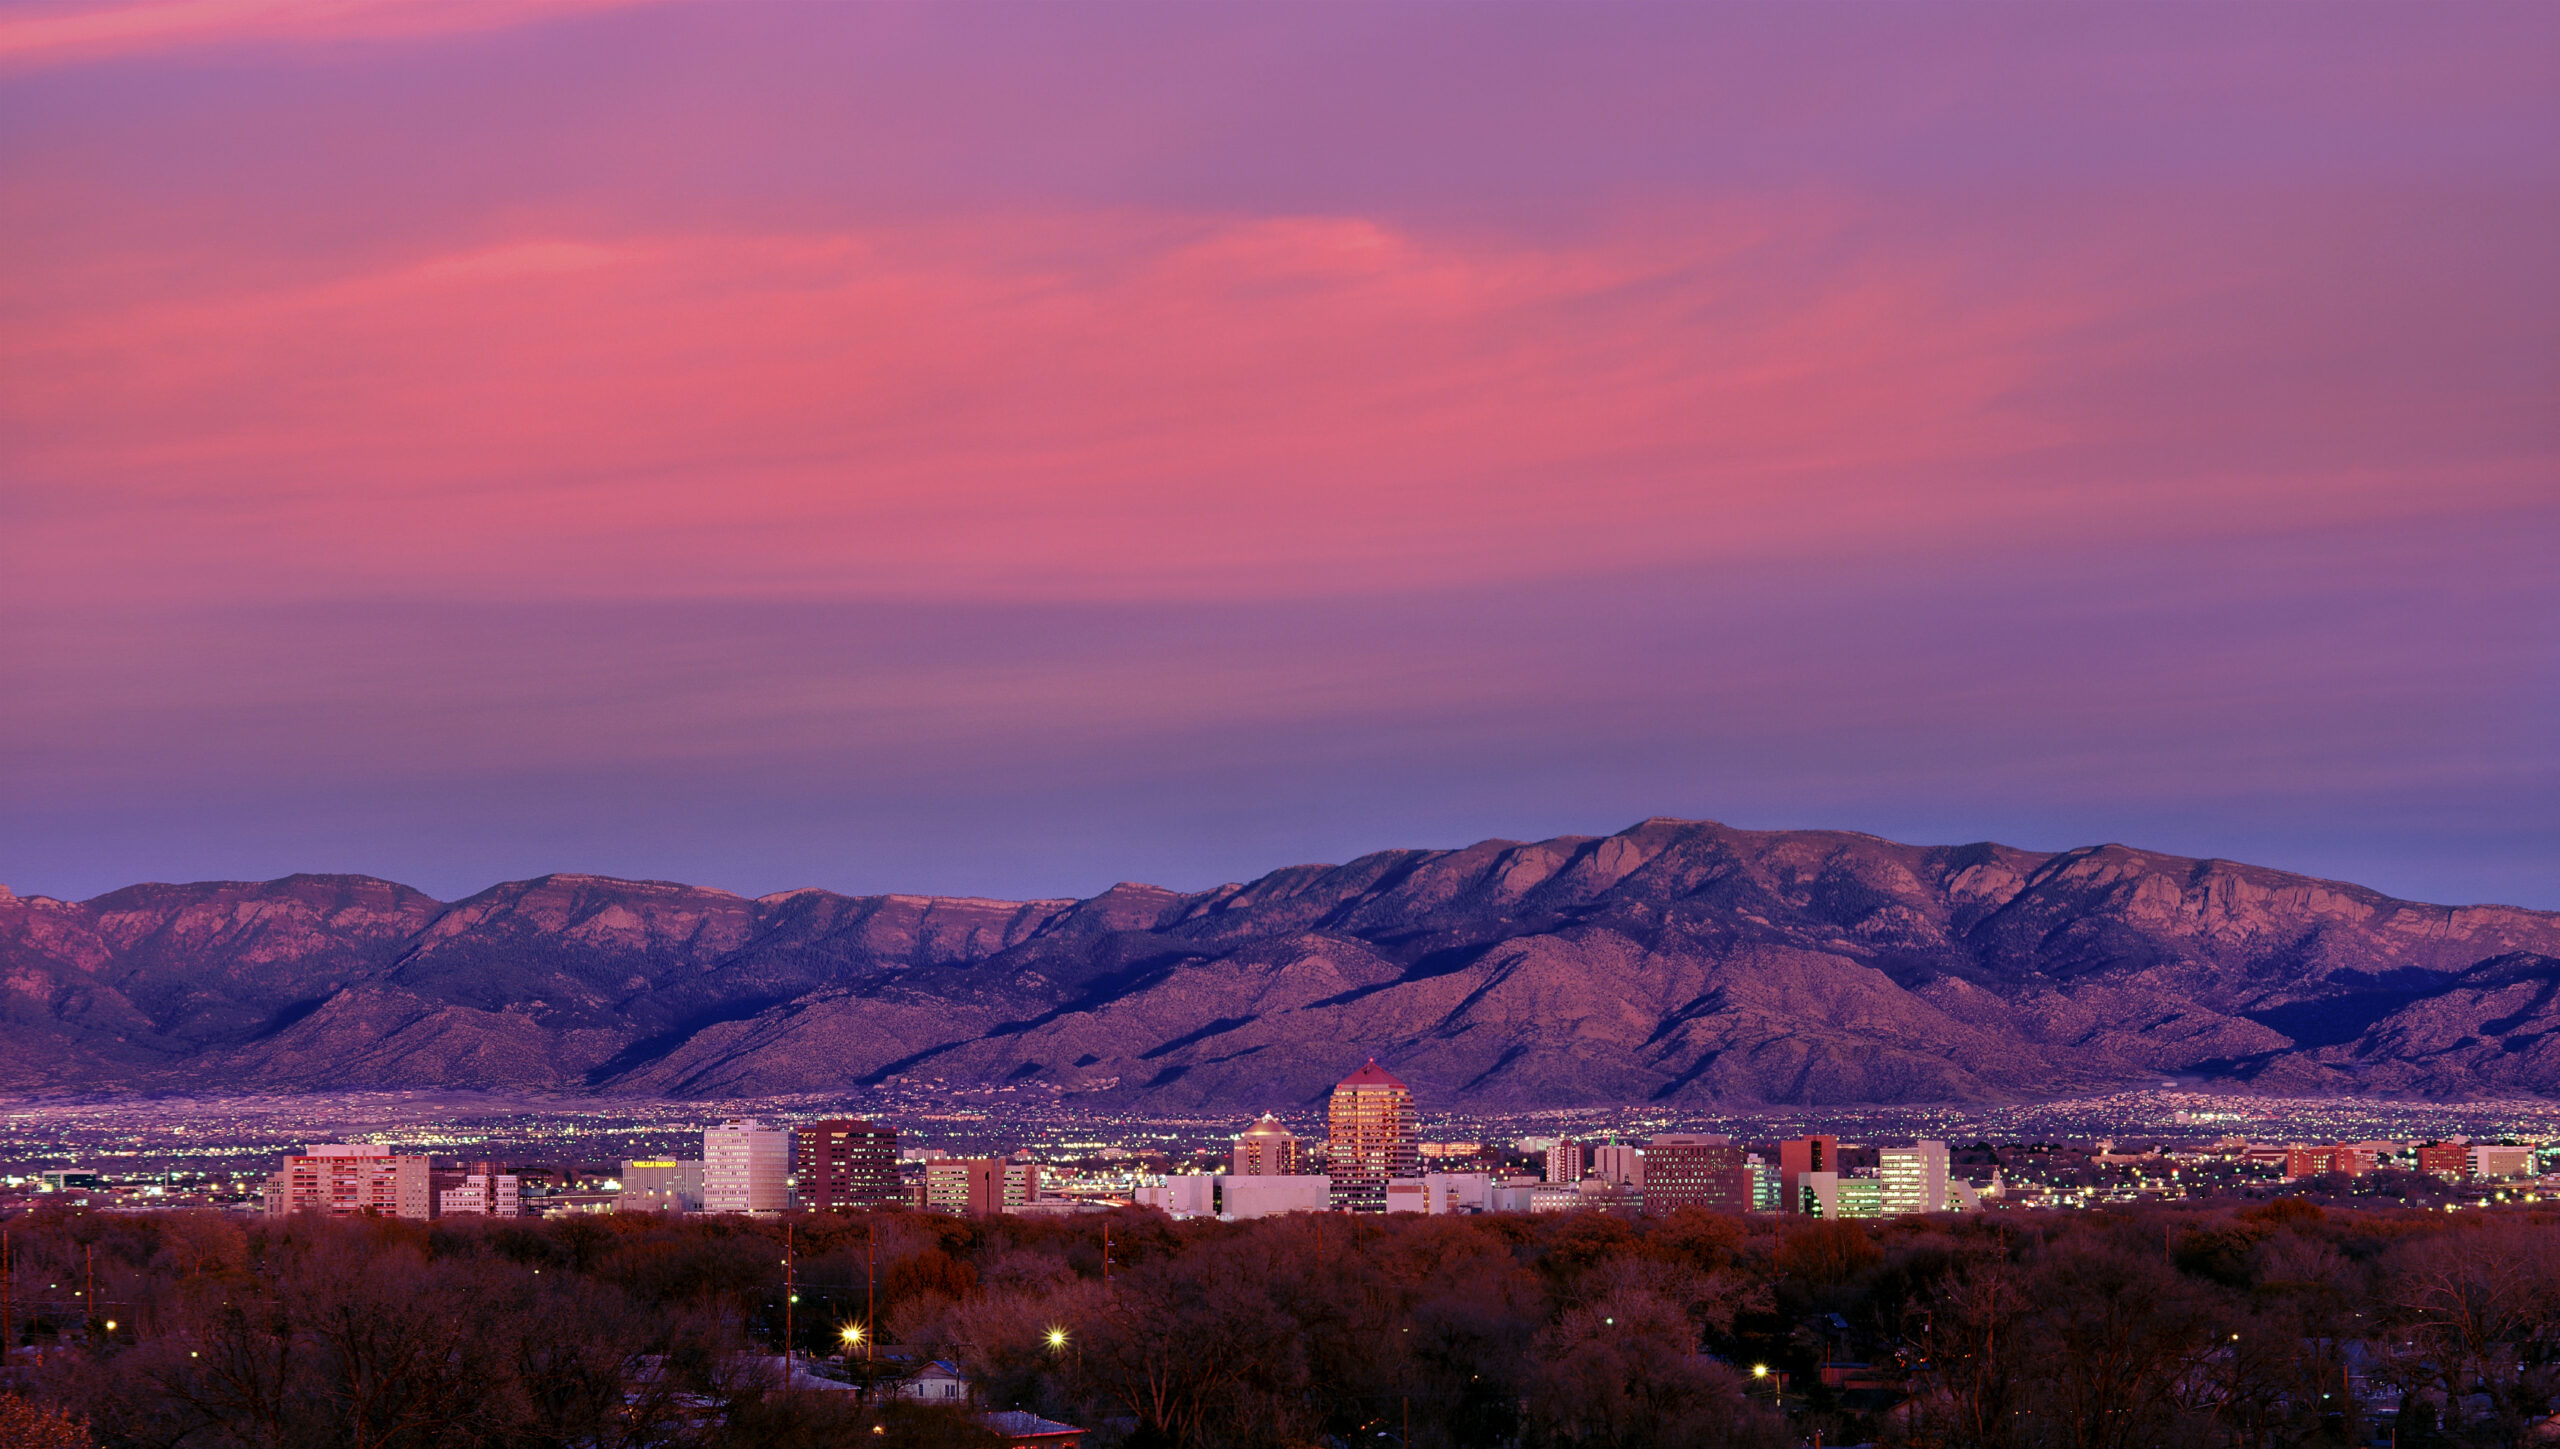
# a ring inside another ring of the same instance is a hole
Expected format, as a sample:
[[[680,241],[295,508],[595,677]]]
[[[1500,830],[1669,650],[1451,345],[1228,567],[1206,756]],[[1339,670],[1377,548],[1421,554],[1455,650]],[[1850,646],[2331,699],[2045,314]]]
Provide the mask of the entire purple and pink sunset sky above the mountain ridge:
[[[2560,8],[0,10],[0,881],[2560,909]]]

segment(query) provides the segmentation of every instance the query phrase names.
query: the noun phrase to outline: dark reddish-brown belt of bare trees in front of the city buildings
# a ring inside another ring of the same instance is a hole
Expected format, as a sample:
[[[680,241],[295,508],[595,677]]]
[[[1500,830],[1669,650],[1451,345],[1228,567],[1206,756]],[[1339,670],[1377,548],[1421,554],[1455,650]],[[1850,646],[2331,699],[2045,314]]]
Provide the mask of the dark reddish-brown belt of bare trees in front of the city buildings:
[[[2529,1208],[33,1211],[8,1239],[20,1398],[0,1398],[0,1449],[993,1441],[957,1411],[786,1393],[786,1334],[840,1359],[847,1329],[906,1367],[950,1359],[980,1408],[1083,1426],[1096,1449],[2560,1434],[2537,1429],[2560,1393],[2560,1219]]]

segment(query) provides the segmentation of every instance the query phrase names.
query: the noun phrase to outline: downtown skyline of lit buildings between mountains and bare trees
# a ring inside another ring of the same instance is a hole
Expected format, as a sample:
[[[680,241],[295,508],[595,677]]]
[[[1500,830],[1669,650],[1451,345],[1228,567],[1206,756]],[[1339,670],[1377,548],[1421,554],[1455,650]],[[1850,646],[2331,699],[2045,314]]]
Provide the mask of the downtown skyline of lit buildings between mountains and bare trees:
[[[1464,1152],[1457,1152],[1464,1147]],[[307,1147],[269,1178],[269,1213],[328,1211],[399,1219],[520,1216],[530,1211],[653,1213],[783,1213],[916,1208],[960,1216],[1080,1213],[1116,1203],[1155,1206],[1172,1216],[1260,1219],[1272,1213],[1795,1213],[1818,1219],[1882,1219],[1946,1213],[2015,1196],[2033,1206],[2051,1196],[2033,1180],[2002,1183],[1997,1160],[1984,1185],[1956,1173],[1946,1142],[1853,1149],[1833,1134],[1807,1134],[1754,1152],[1720,1134],[1659,1132],[1644,1142],[1523,1139],[1544,1152],[1544,1173],[1439,1170],[1459,1167],[1477,1144],[1418,1142],[1413,1088],[1375,1060],[1344,1078],[1326,1106],[1326,1134],[1306,1142],[1265,1114],[1231,1139],[1224,1173],[1124,1178],[1096,1190],[1062,1183],[1027,1152],[950,1157],[904,1152],[891,1126],[827,1119],[768,1126],[732,1119],[701,1134],[701,1157],[622,1162],[620,1178],[594,1193],[527,1196],[494,1162],[438,1170],[430,1157],[376,1144]],[[1108,1152],[1106,1152],[1108,1155]],[[1981,1157],[1979,1144],[1974,1149]],[[2225,1139],[2220,1160],[2253,1173],[2281,1167],[2286,1180],[2376,1167],[2414,1167],[2442,1180],[2511,1180],[2537,1170],[2532,1147],[2473,1142],[2337,1142],[2245,1144]],[[1126,1157],[1126,1155],[1124,1155]],[[1856,1160],[1856,1165],[1848,1162]],[[2140,1175],[2161,1167],[2171,1190],[2179,1165],[2212,1155],[2120,1155],[2102,1142],[2089,1162]],[[1518,1160],[1513,1160],[1513,1167]],[[1531,1157],[1536,1165],[1536,1157]],[[1979,1165],[1979,1162],[1976,1162]],[[2130,1165],[2130,1167],[2125,1167]],[[2033,1167],[2033,1165],[2030,1165]],[[1047,1173],[1047,1175],[1044,1175]],[[2138,1183],[2135,1190],[2148,1190]],[[2081,1188],[2086,1196],[2086,1188]]]

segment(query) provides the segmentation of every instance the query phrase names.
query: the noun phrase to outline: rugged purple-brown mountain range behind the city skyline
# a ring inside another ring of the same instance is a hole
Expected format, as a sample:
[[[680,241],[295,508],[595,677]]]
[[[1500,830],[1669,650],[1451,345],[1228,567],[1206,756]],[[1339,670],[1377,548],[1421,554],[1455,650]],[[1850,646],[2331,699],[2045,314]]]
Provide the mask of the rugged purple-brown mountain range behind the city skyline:
[[[1649,819],[1183,896],[965,901],[545,876],[0,891],[0,1088],[829,1091],[1155,1106],[1889,1103],[2163,1075],[2560,1096],[2560,917],[2122,845]]]

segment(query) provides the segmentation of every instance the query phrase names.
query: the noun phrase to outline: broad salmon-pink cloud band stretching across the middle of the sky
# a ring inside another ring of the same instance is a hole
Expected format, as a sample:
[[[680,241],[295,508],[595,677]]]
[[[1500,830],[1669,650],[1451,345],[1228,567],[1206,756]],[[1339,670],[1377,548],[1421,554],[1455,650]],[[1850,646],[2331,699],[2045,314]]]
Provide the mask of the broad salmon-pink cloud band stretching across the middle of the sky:
[[[2248,292],[2263,259],[2130,276],[2189,246],[2153,230],[1987,276],[1971,233],[1864,246],[1879,225],[1736,205],[1574,243],[1134,212],[527,236],[284,287],[212,266],[128,302],[20,279],[0,369],[56,596],[1295,594],[2527,484],[2514,458],[2422,489],[2071,461],[2191,433],[2071,379],[2243,346],[2248,312],[2145,317]]]

